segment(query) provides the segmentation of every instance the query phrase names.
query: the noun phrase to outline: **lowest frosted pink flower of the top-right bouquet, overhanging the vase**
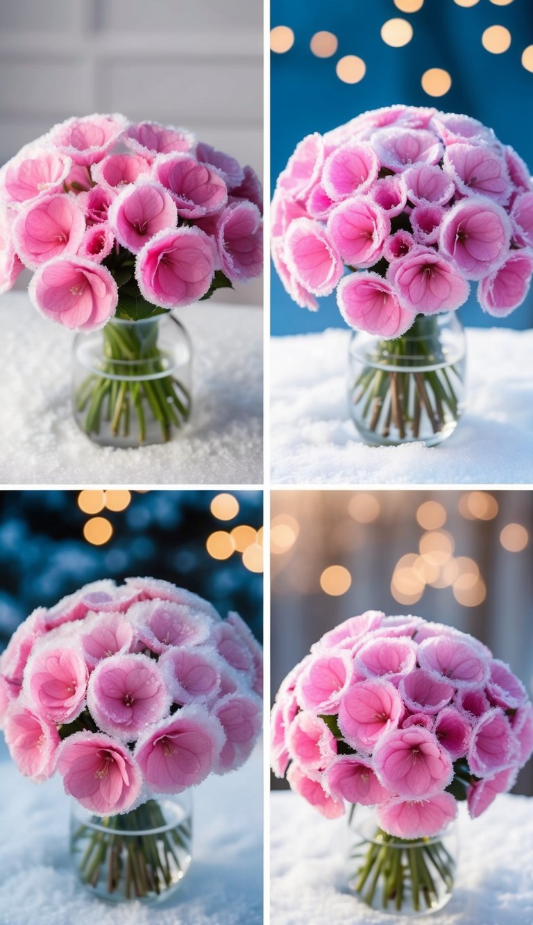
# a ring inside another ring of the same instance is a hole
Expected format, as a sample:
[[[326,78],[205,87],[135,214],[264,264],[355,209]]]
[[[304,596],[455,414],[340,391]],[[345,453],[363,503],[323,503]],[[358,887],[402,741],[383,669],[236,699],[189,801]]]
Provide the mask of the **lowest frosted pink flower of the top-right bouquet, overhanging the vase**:
[[[353,273],[341,279],[337,304],[350,327],[398,338],[415,321],[415,312],[400,304],[395,291],[378,273]]]

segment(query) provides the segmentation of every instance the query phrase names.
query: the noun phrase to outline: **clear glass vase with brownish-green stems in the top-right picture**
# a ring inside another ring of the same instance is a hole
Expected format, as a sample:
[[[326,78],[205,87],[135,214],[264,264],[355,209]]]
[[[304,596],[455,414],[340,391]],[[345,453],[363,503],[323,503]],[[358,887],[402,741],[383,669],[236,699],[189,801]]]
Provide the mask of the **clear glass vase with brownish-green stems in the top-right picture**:
[[[366,443],[431,447],[450,437],[465,400],[465,329],[456,312],[418,315],[395,340],[354,331],[350,413]]]

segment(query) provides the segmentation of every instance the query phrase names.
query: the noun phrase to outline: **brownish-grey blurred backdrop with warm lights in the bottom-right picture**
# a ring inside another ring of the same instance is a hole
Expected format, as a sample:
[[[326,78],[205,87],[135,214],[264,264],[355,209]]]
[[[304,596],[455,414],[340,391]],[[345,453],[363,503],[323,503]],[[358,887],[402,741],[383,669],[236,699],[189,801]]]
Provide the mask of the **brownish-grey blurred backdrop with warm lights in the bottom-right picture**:
[[[533,492],[274,491],[271,514],[272,697],[366,610],[475,635],[533,697]],[[533,796],[533,762],[514,792]]]

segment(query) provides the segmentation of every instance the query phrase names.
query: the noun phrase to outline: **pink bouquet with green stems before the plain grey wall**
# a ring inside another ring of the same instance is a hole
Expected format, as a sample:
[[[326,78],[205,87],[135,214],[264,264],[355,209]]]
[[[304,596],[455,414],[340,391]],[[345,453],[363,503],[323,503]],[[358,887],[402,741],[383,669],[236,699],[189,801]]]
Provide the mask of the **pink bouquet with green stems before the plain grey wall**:
[[[68,328],[153,318],[262,271],[262,192],[253,168],[187,129],[120,115],[69,118],[2,167],[0,203],[0,292],[27,266],[31,302]],[[145,331],[111,324],[107,371],[138,360],[163,372],[163,353],[146,343]],[[88,431],[97,431],[112,381],[83,390]],[[109,416],[117,430],[130,398],[141,442],[154,407],[166,433],[189,413],[180,383],[159,377],[127,386],[115,389]]]

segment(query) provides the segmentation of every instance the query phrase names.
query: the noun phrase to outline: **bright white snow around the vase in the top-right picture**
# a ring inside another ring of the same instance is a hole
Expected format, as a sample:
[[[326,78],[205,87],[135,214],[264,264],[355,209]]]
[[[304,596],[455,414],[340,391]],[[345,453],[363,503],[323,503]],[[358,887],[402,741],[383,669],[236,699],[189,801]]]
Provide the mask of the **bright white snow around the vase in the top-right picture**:
[[[272,479],[278,484],[533,481],[533,330],[468,328],[466,411],[439,447],[367,447],[348,413],[350,331],[274,338]]]

